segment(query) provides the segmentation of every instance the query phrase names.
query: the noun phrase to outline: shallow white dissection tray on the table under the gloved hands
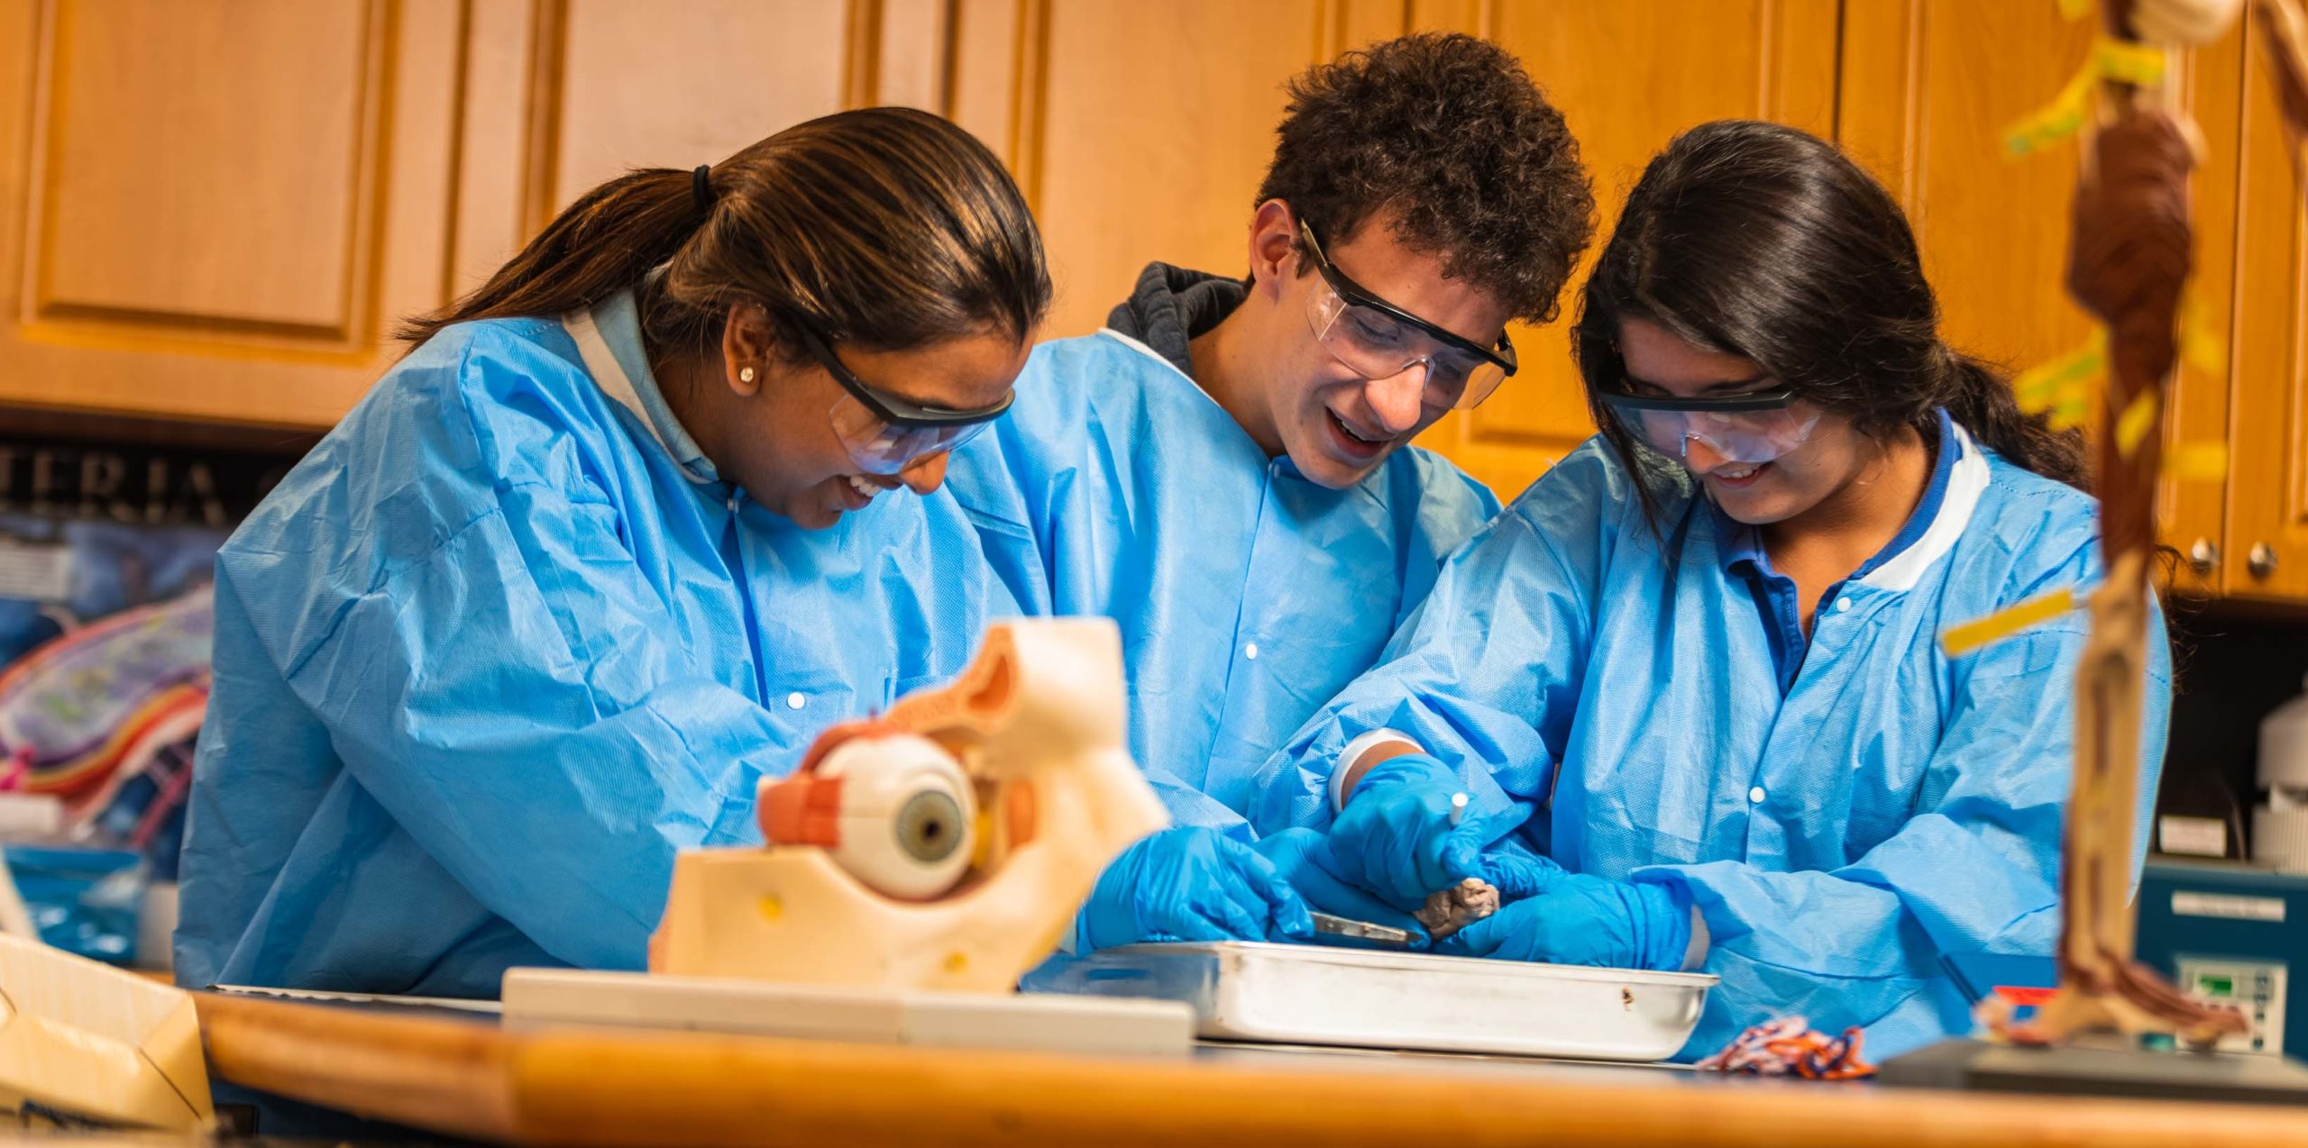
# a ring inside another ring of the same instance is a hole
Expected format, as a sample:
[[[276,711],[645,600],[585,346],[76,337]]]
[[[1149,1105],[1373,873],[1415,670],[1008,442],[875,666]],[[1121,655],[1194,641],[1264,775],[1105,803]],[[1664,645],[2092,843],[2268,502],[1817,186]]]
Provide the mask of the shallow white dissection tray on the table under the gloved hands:
[[[1198,1035],[1357,1049],[1664,1060],[1715,977],[1322,945],[1129,945],[1052,957],[1034,994],[1193,1005]]]

